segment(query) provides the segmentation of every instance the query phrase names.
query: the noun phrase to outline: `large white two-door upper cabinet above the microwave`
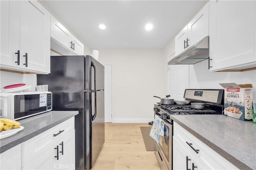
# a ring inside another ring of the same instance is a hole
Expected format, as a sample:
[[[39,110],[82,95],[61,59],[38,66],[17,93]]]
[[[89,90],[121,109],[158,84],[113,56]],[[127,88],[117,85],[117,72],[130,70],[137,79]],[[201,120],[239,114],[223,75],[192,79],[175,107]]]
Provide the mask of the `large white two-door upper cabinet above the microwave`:
[[[50,73],[50,13],[37,1],[1,1],[1,68]]]

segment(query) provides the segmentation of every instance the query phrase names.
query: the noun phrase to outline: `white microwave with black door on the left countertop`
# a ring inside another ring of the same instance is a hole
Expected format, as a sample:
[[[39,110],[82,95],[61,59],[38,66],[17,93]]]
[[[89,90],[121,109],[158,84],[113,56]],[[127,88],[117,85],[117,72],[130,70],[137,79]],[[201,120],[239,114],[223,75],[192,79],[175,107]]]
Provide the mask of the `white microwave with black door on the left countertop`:
[[[50,110],[51,92],[0,93],[0,117],[18,120]]]

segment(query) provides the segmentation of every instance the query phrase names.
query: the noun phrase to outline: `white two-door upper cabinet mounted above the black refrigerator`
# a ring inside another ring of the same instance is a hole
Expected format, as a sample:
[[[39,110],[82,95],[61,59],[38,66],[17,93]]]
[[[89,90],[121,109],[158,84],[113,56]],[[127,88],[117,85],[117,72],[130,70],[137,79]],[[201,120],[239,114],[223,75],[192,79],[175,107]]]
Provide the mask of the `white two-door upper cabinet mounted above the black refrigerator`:
[[[52,15],[51,49],[61,55],[84,55],[84,45]]]

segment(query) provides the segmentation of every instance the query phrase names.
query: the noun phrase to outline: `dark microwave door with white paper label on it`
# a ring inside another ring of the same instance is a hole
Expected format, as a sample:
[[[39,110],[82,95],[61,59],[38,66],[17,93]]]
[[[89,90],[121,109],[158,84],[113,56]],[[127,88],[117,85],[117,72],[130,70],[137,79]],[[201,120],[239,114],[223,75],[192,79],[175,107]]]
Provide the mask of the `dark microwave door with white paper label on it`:
[[[47,94],[14,96],[14,119],[46,110]]]

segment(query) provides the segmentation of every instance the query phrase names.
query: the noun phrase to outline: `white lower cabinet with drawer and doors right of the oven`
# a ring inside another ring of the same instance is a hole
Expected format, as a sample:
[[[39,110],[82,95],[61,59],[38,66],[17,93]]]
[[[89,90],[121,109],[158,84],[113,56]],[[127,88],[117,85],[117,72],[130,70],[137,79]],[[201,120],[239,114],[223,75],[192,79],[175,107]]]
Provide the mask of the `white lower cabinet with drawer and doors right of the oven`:
[[[192,147],[198,150],[198,153]],[[238,168],[174,122],[173,169],[237,170]]]

